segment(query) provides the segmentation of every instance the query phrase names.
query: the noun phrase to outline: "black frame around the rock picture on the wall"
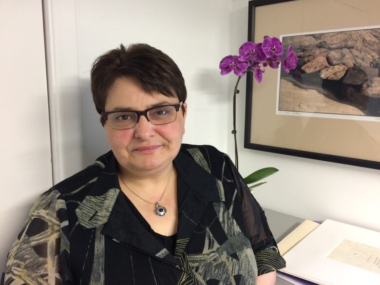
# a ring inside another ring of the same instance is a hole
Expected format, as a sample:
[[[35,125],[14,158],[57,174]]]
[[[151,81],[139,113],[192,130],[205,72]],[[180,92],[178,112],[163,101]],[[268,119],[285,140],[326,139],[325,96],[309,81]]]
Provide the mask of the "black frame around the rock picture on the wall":
[[[254,41],[255,19],[256,19],[255,13],[257,13],[256,7],[291,2],[291,1],[299,1],[299,0],[250,0],[248,2],[248,38],[247,38],[248,41]],[[272,35],[269,35],[269,36],[272,36]],[[302,150],[297,150],[297,149],[282,148],[282,147],[270,146],[270,145],[265,145],[265,144],[252,143],[251,142],[251,134],[252,134],[251,121],[252,121],[253,79],[254,79],[253,74],[251,72],[247,73],[246,110],[245,110],[246,114],[245,114],[245,134],[244,134],[245,148],[380,170],[379,161],[371,161],[371,160],[352,158],[352,157],[346,157],[346,156],[340,156],[340,155],[334,155],[334,154],[324,154],[324,153],[319,153],[319,152],[307,152],[307,151],[302,151]],[[379,122],[379,127],[380,127],[380,122]],[[380,152],[380,146],[379,146],[379,152]]]

